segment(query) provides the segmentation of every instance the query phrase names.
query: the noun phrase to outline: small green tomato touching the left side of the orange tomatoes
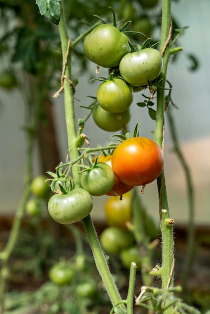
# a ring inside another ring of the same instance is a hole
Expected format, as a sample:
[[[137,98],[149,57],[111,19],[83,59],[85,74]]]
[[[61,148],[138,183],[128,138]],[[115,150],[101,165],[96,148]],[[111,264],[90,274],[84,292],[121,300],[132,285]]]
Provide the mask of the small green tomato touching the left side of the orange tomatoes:
[[[93,168],[83,171],[80,175],[83,189],[91,195],[101,196],[110,192],[115,184],[115,174],[105,163],[98,163]]]

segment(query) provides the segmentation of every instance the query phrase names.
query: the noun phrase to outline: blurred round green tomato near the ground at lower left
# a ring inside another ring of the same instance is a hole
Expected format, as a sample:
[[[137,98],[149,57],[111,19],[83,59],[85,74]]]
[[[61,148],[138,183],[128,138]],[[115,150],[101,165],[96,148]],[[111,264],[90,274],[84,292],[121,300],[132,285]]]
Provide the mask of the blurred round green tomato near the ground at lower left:
[[[59,262],[50,268],[49,278],[58,285],[66,285],[71,283],[74,273],[71,263]]]

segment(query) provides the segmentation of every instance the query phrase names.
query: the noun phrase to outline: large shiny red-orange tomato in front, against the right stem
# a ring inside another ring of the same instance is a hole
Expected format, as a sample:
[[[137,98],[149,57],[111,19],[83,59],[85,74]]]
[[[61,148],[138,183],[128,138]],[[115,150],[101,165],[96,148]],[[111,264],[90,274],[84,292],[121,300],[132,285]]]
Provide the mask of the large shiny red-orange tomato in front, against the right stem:
[[[163,170],[163,153],[152,139],[132,137],[119,144],[112,155],[112,168],[123,183],[144,186]]]

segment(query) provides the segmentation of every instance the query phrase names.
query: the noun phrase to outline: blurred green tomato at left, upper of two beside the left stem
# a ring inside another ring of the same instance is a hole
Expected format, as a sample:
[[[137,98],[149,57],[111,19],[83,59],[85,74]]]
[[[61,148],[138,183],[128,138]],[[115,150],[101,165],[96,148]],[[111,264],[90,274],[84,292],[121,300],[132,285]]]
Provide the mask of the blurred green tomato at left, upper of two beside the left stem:
[[[46,199],[50,195],[50,186],[46,180],[46,176],[38,176],[34,178],[31,184],[32,193],[42,199]]]

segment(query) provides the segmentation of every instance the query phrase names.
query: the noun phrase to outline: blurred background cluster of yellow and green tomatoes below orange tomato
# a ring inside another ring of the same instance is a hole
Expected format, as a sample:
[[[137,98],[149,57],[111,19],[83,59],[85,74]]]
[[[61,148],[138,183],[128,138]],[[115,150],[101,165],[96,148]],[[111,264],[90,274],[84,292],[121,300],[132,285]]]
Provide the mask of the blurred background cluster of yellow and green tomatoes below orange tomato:
[[[107,254],[119,257],[125,268],[136,263],[141,269],[141,256],[134,234],[128,229],[132,224],[132,192],[121,197],[111,197],[105,204],[105,216],[108,227],[100,235],[100,243]],[[157,238],[158,229],[153,217],[144,211],[145,235],[153,240]]]

